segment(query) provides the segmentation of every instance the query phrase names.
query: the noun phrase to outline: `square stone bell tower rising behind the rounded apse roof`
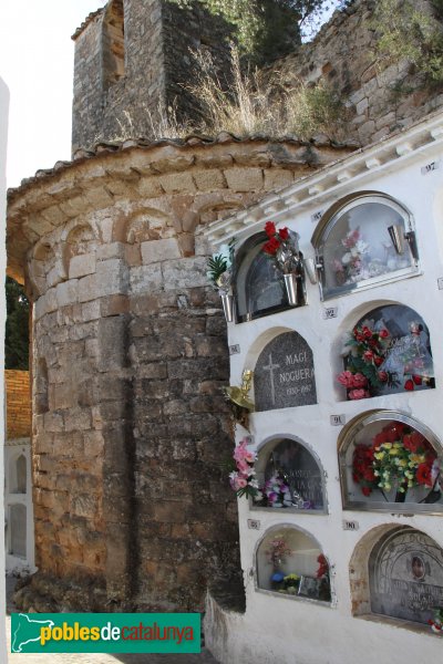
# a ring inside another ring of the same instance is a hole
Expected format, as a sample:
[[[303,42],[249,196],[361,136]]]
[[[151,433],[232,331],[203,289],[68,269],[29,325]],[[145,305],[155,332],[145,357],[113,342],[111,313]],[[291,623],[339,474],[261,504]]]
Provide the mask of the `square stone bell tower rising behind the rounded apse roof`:
[[[219,71],[229,30],[196,4],[167,0],[110,0],[75,31],[72,152],[100,141],[159,137],[166,112],[195,116],[186,91],[192,51],[207,49]]]

